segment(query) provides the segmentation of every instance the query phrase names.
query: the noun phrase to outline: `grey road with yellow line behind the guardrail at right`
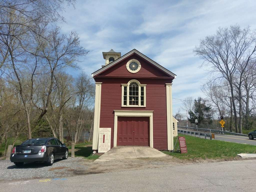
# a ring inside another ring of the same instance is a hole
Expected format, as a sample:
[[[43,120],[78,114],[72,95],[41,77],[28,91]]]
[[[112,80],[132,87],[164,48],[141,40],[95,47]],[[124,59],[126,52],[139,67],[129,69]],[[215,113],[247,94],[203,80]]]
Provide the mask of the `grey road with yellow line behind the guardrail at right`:
[[[180,129],[180,128],[178,128]],[[185,130],[186,129],[180,129],[180,130]],[[193,131],[193,130],[188,130],[188,131]],[[205,133],[202,131],[196,131],[200,133]],[[186,134],[186,132],[185,132]],[[207,133],[209,134],[209,133]],[[198,135],[196,135],[198,137]],[[201,136],[204,137],[204,136]],[[220,140],[220,141],[227,141],[227,142],[233,142],[233,143],[242,143],[242,144],[249,144],[249,145],[256,145],[256,139],[250,140],[249,137],[246,136],[237,136],[237,135],[227,135],[227,134],[216,134],[215,133],[215,140]]]

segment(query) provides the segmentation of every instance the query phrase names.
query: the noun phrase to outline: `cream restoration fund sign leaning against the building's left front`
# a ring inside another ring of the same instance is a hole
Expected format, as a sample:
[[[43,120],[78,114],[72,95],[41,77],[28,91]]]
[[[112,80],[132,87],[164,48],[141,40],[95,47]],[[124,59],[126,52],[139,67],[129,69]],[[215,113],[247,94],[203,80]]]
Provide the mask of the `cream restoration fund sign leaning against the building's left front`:
[[[110,150],[111,128],[100,128],[98,153],[106,153]]]

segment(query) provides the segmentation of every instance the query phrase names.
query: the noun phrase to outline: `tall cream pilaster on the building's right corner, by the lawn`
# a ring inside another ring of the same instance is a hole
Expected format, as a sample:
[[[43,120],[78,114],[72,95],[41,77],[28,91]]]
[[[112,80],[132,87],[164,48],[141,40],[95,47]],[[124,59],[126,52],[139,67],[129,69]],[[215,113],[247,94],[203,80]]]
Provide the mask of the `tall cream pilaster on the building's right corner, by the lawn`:
[[[172,110],[172,83],[166,84],[166,113],[167,113],[167,150],[173,150],[173,110]]]

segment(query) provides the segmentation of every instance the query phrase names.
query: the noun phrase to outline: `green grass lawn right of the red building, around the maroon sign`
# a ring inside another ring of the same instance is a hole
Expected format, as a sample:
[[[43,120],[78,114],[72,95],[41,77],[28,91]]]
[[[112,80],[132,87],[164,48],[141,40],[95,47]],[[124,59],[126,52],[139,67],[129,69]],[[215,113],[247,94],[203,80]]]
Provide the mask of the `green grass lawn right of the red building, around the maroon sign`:
[[[231,143],[217,140],[205,140],[188,135],[181,135],[186,138],[187,153],[163,151],[167,155],[177,157],[179,159],[225,159],[234,158],[239,153],[256,153],[255,145],[245,145],[239,143]],[[174,144],[177,137],[174,137]],[[179,141],[177,141],[175,149],[179,149]]]

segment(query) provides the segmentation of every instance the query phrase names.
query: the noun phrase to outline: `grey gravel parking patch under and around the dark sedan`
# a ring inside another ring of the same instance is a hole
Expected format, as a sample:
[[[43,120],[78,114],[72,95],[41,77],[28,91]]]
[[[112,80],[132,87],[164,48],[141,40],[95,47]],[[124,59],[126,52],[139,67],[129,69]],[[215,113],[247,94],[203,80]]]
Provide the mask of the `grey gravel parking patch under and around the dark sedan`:
[[[22,180],[31,178],[56,178],[76,175],[77,171],[85,171],[88,166],[83,164],[81,157],[66,160],[58,159],[52,166],[44,163],[25,163],[23,167],[16,167],[10,161],[0,161],[0,180]]]

